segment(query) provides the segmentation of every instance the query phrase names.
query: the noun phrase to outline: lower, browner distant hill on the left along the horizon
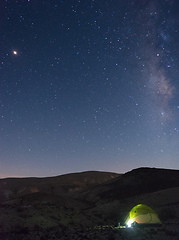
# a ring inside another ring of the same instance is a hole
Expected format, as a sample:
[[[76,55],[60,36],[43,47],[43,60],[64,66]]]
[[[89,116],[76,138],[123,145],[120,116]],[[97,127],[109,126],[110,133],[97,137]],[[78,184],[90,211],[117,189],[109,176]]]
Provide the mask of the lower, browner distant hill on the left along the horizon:
[[[118,176],[120,174],[111,172],[87,171],[46,178],[0,179],[0,202],[39,192],[57,196],[70,194]]]

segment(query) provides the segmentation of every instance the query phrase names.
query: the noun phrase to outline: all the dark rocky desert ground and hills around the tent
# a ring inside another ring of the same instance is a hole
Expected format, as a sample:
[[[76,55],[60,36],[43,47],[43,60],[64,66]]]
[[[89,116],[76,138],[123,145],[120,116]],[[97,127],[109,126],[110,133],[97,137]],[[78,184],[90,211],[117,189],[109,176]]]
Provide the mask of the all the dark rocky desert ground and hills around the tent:
[[[121,228],[136,204],[162,226]],[[0,179],[0,239],[179,239],[179,170]]]

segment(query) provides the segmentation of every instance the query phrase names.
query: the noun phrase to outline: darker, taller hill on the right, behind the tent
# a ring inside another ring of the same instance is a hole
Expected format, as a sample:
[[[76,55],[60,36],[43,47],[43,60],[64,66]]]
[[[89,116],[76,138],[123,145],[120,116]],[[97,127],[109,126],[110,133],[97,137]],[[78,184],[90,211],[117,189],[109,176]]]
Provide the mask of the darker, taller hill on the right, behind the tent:
[[[138,168],[86,189],[84,196],[95,201],[114,201],[175,187],[179,187],[179,170]]]

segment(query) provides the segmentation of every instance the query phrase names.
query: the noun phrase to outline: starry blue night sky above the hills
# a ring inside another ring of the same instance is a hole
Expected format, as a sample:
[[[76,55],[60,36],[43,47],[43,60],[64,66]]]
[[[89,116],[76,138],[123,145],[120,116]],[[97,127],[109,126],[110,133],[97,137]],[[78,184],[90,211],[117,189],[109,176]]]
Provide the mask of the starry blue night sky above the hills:
[[[179,169],[178,0],[1,0],[0,177]]]

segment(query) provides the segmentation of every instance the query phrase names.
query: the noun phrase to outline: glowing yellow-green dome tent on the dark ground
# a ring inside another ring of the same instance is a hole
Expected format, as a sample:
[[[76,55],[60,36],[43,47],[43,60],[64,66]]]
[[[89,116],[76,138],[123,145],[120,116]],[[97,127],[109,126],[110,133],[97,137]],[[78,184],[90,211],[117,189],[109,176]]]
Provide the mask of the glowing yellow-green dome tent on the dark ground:
[[[135,225],[159,225],[162,224],[157,213],[147,205],[138,204],[128,213],[125,225],[127,227]]]

